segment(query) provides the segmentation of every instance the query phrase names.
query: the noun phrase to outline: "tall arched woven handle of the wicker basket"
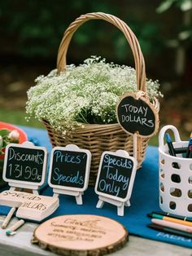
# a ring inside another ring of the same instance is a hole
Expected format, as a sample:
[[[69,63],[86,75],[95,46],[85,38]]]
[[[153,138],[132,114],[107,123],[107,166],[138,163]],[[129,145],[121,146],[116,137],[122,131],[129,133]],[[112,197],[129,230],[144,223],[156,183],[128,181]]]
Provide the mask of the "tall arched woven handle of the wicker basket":
[[[124,33],[124,37],[129,42],[131,50],[133,52],[135,69],[137,75],[137,90],[143,90],[146,92],[146,68],[145,61],[142,55],[141,48],[137,41],[133,31],[129,28],[124,21],[120,20],[114,15],[106,14],[103,12],[93,12],[81,15],[69,25],[68,29],[63,35],[63,39],[59,46],[58,58],[57,58],[57,69],[58,73],[63,72],[66,68],[66,55],[68,51],[68,45],[71,42],[73,33],[76,32],[81,24],[84,24],[88,20],[106,20],[107,22],[115,25],[120,31]]]

